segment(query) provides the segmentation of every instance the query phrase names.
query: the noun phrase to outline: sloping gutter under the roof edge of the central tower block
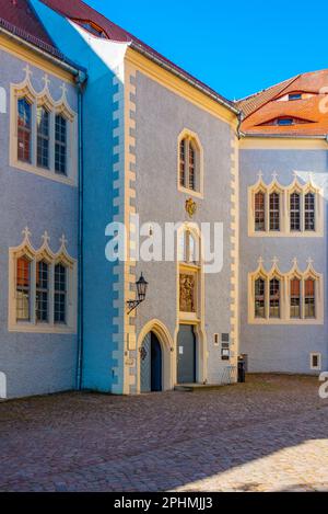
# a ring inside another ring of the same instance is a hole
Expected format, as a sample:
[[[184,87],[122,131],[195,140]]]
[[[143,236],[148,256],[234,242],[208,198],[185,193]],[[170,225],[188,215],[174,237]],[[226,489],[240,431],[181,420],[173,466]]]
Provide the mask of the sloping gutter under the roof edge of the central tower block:
[[[139,54],[148,57],[150,60],[153,60],[156,62],[156,65],[161,66],[161,68],[164,68],[167,71],[171,71],[171,73],[175,75],[179,79],[184,80],[185,82],[188,82],[190,85],[194,88],[198,89],[202,93],[204,93],[207,96],[210,96],[212,100],[215,102],[220,103],[223,105],[225,108],[229,108],[232,113],[238,115],[241,111],[236,107],[234,107],[231,103],[225,101],[220,94],[215,93],[214,91],[211,91],[209,88],[206,85],[201,85],[196,79],[192,79],[191,77],[187,77],[183,71],[179,71],[175,66],[171,65],[167,61],[162,60],[160,57],[155,56],[151,52],[147,50],[142,45],[139,43],[136,43],[134,41],[131,42],[130,44],[131,48],[139,52]]]

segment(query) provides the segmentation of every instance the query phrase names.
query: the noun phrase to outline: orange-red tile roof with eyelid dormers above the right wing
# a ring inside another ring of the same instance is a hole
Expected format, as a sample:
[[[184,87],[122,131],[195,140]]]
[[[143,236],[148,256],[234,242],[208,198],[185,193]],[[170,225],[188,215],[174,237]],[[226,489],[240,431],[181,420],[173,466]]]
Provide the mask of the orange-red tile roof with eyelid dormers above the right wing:
[[[323,91],[321,88],[327,88]],[[280,101],[291,93],[303,93],[293,101]],[[254,135],[326,136],[328,134],[328,70],[298,75],[268,90],[248,96],[237,105],[245,114],[242,130]],[[324,107],[324,108],[323,108]],[[293,125],[272,124],[293,118]]]

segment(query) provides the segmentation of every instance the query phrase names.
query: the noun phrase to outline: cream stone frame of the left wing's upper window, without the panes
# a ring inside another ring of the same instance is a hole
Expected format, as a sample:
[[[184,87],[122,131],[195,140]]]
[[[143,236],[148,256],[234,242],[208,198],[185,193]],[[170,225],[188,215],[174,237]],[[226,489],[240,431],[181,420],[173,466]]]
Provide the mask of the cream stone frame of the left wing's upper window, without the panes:
[[[61,94],[58,100],[54,100],[49,91],[49,78],[44,76],[44,88],[37,92],[32,83],[32,71],[28,65],[24,68],[25,78],[19,84],[11,84],[11,106],[10,106],[10,165],[23,171],[30,171],[47,179],[62,182],[69,185],[77,185],[77,113],[70,107],[67,99],[67,85],[63,82],[60,87]],[[19,158],[17,152],[17,103],[25,99],[31,105],[31,157],[28,160]],[[43,107],[48,113],[48,159],[39,158],[39,133],[37,129],[37,111]],[[67,122],[67,160],[65,173],[58,173],[55,169],[55,117],[62,116]],[[46,162],[46,165],[43,163]]]

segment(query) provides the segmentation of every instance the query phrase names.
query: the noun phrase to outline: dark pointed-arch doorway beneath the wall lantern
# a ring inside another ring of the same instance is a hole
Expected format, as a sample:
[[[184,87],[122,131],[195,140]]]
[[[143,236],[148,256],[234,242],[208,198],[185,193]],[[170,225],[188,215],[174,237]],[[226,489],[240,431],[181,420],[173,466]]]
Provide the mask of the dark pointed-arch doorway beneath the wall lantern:
[[[140,349],[140,390],[163,390],[163,359],[161,343],[154,332],[149,332]]]

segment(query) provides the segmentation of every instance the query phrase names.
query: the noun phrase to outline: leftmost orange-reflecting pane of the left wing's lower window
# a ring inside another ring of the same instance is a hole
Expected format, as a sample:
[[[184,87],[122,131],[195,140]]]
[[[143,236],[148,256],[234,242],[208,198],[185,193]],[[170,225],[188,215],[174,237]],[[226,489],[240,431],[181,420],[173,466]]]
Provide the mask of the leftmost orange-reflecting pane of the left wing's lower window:
[[[16,320],[30,321],[31,262],[27,258],[17,259],[16,264]]]

